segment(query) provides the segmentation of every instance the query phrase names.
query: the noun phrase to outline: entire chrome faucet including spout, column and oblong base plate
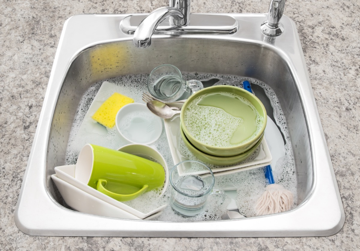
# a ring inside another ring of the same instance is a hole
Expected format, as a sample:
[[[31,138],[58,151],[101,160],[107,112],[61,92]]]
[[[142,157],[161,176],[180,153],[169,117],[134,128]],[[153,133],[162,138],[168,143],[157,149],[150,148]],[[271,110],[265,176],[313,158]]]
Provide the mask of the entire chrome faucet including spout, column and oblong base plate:
[[[239,29],[238,21],[228,15],[190,14],[190,0],[169,0],[169,5],[158,8],[149,15],[135,14],[123,18],[120,30],[129,35],[134,34],[136,47],[146,48],[151,44],[153,34],[226,35]]]

